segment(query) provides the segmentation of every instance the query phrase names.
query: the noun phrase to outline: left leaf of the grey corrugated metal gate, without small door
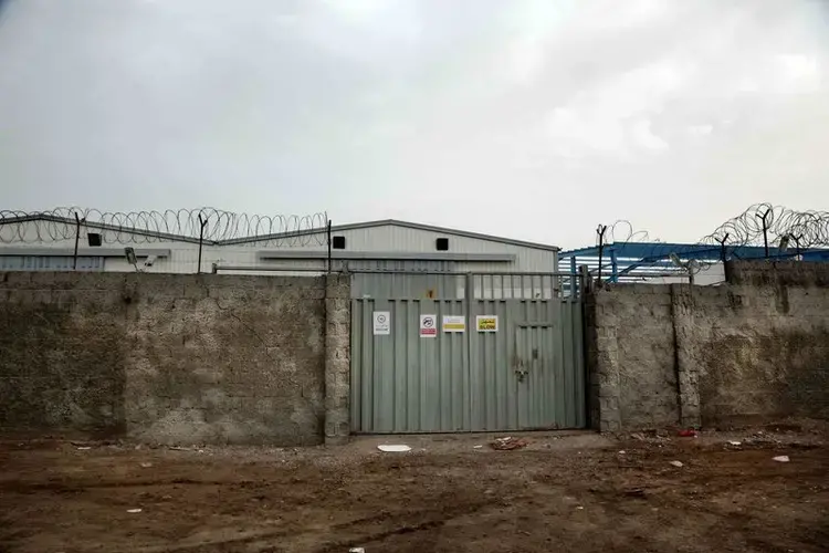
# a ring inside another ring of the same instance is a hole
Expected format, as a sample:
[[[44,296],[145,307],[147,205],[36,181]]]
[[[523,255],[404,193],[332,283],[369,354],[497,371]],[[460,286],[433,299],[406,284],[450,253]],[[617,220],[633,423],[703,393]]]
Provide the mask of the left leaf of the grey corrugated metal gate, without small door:
[[[390,334],[374,334],[388,311]],[[354,300],[351,426],[361,432],[453,432],[468,428],[464,334],[420,337],[420,315],[462,315],[459,300]]]

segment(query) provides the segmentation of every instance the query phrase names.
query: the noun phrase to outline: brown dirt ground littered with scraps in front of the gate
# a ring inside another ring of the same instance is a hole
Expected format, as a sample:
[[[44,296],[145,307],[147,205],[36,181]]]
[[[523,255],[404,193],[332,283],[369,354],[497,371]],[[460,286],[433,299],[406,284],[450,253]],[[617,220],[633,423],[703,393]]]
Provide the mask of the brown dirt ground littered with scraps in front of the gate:
[[[513,451],[490,435],[328,449],[4,440],[0,552],[829,551],[825,427],[523,436]]]

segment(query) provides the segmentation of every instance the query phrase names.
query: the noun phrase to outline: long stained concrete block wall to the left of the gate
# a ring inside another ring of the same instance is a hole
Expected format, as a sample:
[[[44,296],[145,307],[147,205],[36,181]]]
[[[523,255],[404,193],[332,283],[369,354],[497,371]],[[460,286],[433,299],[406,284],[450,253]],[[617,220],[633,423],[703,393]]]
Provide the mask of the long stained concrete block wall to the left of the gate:
[[[348,282],[0,273],[0,430],[318,444],[328,359],[348,363],[329,291]]]

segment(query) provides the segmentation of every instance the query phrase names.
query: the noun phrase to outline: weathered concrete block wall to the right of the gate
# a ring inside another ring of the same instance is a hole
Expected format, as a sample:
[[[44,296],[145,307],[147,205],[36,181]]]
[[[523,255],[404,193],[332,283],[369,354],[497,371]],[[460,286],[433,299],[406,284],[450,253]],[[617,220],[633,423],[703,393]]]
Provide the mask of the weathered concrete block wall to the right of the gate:
[[[829,418],[829,265],[728,263],[723,286],[616,285],[587,303],[601,430]]]

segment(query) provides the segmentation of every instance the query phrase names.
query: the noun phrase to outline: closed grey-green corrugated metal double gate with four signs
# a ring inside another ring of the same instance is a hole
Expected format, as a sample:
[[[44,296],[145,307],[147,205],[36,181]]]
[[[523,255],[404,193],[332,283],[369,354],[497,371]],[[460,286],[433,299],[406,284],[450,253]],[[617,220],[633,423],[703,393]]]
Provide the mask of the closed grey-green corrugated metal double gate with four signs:
[[[355,274],[353,430],[585,427],[576,281],[569,274]],[[421,321],[430,315],[431,327]],[[464,332],[445,332],[450,315],[463,317]],[[496,330],[480,332],[479,315]]]

